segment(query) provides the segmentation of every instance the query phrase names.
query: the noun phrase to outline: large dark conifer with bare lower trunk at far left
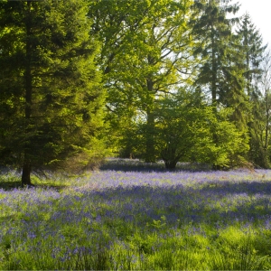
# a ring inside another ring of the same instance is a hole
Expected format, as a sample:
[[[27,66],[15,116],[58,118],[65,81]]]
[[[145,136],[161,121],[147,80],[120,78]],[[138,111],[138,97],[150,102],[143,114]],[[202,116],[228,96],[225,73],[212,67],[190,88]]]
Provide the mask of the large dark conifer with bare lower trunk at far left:
[[[103,90],[84,1],[0,4],[0,152],[22,167],[88,164],[102,156]],[[99,154],[100,152],[100,154]]]

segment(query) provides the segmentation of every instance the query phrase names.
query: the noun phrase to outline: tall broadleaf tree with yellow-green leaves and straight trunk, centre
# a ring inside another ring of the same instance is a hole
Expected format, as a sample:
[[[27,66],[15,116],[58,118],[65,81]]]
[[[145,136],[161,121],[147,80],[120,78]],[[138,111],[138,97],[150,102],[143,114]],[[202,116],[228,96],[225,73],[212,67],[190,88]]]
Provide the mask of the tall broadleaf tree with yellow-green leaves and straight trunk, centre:
[[[156,100],[180,84],[190,68],[190,5],[191,1],[172,0],[90,4],[90,13],[96,15],[93,31],[104,44],[100,62],[107,78],[110,123],[116,128],[116,123],[123,124],[119,119],[144,116],[145,162],[156,158]],[[123,127],[119,131],[123,135]]]

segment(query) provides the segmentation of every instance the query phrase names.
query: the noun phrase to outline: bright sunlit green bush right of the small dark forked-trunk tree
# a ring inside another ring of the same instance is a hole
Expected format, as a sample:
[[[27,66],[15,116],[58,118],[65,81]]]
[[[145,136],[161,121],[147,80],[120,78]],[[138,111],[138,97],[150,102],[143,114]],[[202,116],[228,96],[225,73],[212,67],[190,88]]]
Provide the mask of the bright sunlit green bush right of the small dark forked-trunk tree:
[[[215,168],[229,168],[246,164],[244,154],[248,152],[248,137],[238,131],[229,121],[232,109],[221,108],[214,113],[212,108],[205,109],[201,126],[197,128],[198,141],[193,155],[199,162],[213,164]]]

